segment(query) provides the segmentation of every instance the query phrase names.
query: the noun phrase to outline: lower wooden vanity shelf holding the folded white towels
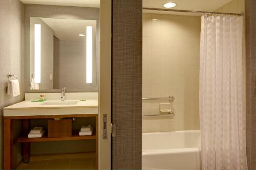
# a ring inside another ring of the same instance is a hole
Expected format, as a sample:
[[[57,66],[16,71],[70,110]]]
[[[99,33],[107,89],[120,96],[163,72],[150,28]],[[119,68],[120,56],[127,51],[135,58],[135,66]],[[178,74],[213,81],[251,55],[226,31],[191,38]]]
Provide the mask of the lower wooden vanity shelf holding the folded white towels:
[[[28,138],[28,133],[17,138],[18,143],[23,142],[44,142],[44,141],[63,141],[63,140],[87,140],[96,139],[96,134],[93,132],[91,136],[79,136],[79,131],[72,131],[71,137],[48,137],[47,134],[40,138]]]

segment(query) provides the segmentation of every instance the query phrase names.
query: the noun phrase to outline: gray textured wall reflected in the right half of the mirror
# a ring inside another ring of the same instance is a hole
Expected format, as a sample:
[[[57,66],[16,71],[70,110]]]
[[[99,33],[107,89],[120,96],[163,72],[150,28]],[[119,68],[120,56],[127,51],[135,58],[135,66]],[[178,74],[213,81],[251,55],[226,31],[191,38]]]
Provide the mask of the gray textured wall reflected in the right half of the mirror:
[[[54,41],[54,89],[87,86],[85,47],[86,41]]]

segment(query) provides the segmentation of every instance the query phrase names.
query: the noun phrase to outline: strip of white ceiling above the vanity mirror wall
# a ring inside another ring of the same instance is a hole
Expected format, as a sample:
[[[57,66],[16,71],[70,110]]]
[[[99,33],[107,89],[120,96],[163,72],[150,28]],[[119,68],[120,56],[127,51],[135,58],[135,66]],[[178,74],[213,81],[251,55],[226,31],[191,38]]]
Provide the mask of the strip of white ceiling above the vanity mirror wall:
[[[100,7],[100,0],[20,0],[24,4],[60,5],[73,7]]]

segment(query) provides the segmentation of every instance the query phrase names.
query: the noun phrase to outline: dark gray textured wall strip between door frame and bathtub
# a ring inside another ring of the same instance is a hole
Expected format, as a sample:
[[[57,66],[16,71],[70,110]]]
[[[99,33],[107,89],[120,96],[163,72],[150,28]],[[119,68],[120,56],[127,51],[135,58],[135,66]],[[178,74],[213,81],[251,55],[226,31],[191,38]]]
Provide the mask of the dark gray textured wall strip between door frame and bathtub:
[[[142,0],[112,1],[113,169],[141,169]]]

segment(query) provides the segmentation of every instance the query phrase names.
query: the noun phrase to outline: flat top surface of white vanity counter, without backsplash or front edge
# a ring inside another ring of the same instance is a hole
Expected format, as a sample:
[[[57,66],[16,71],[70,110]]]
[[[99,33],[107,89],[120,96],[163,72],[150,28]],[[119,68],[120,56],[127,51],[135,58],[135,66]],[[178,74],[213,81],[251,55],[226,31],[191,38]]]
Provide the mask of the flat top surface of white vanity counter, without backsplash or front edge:
[[[66,100],[65,102],[75,102],[78,100]],[[46,100],[45,102],[23,101],[14,105],[5,107],[4,110],[16,109],[58,109],[58,108],[97,108],[97,99],[88,99],[86,101],[78,101],[75,105],[44,105],[46,102],[60,102],[60,100]]]

